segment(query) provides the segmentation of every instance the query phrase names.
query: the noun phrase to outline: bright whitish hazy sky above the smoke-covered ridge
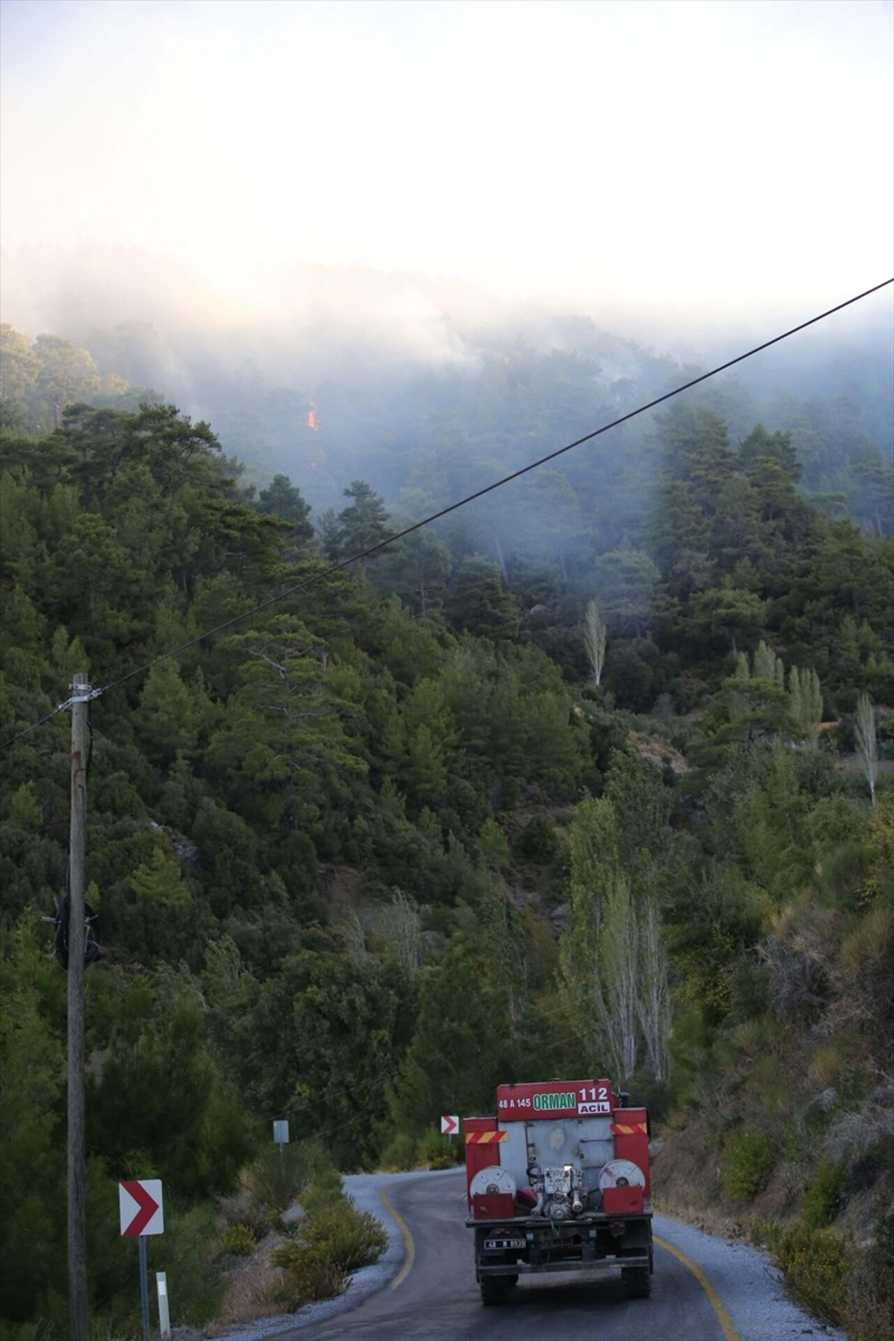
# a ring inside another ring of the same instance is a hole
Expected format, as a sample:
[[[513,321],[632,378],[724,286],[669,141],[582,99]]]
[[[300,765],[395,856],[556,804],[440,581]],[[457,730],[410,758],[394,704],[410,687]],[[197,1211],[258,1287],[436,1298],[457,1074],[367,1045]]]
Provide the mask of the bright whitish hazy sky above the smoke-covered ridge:
[[[592,311],[810,315],[894,272],[890,0],[3,0],[1,227]]]

